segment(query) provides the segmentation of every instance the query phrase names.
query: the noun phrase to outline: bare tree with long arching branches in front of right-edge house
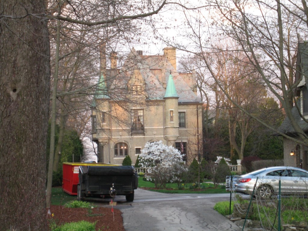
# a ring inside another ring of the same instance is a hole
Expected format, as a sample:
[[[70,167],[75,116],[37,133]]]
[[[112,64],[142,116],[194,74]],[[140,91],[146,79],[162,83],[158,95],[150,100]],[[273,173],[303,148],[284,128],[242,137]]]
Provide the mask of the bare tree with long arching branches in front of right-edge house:
[[[202,4],[202,5],[201,5]],[[307,145],[307,135],[296,123],[291,109],[296,104],[297,98],[294,89],[294,63],[298,42],[307,38],[307,6],[305,1],[206,1],[200,5],[181,5],[185,15],[183,30],[189,47],[186,49],[178,45],[178,41],[168,40],[170,45],[197,55],[204,60],[206,68],[218,88],[243,113],[256,120],[263,126],[277,132],[299,144]],[[235,47],[217,47],[217,42],[222,38],[230,38],[237,44]],[[278,131],[277,127],[267,124],[245,107],[240,105],[228,88],[217,78],[208,56],[216,52],[240,50],[245,54],[246,61],[253,66],[261,76],[267,93],[275,97],[286,116],[290,119],[296,136],[288,136]],[[297,71],[300,71],[299,69]],[[301,114],[301,110],[298,110]],[[302,116],[302,119],[305,118]]]

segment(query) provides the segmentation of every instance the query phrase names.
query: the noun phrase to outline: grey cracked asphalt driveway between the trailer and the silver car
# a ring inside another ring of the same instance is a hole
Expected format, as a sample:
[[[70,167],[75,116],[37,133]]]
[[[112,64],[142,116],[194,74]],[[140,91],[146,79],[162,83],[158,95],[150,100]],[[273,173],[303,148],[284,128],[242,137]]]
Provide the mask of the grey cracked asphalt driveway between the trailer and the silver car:
[[[134,202],[128,203],[122,196],[115,201],[126,231],[240,231],[213,209],[216,202],[229,197],[229,193],[165,194],[138,188]]]

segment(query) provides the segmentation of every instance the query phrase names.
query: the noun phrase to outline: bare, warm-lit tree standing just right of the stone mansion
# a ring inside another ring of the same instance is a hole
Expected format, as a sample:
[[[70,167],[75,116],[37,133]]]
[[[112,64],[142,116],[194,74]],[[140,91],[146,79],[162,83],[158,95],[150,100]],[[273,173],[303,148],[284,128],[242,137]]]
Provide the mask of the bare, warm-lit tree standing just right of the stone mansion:
[[[198,68],[195,65],[195,68],[197,68],[196,73],[200,73],[197,74],[197,83],[203,83],[204,86],[199,89],[203,95],[206,95],[205,90],[207,90],[212,99],[211,102],[214,102],[212,105],[216,109],[214,126],[218,128],[220,116],[228,120],[230,158],[233,158],[235,155],[235,150],[239,158],[243,159],[246,140],[259,124],[255,123],[251,117],[243,113],[233,101],[250,113],[259,114],[257,112],[257,106],[266,95],[266,91],[260,75],[258,75],[255,67],[249,64],[249,60],[245,54],[240,49],[236,49],[236,46],[230,43],[230,40],[223,40],[223,42],[229,44],[226,51],[217,51],[211,55],[205,55],[204,58],[211,68],[212,75],[215,76],[220,87],[222,87],[232,100],[229,100],[225,96],[216,82],[211,81],[211,76],[203,74],[206,70],[204,68],[206,63],[200,57],[195,58],[195,60],[198,60],[195,63],[201,63]],[[222,42],[216,45],[217,50],[221,44]],[[207,97],[208,104],[209,97]],[[222,108],[225,110],[222,110]],[[205,126],[205,128],[207,127]],[[217,131],[218,129],[215,130]]]

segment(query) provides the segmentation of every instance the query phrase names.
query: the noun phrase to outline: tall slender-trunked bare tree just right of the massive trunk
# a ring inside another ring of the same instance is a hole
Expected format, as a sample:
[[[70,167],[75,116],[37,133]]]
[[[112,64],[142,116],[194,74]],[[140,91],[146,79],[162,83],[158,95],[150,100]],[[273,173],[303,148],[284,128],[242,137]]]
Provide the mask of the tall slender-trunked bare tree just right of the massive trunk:
[[[128,2],[83,1],[83,5],[80,5],[79,1],[71,1],[69,4],[65,1],[60,1],[58,13],[56,16],[51,16],[60,20],[57,21],[57,25],[54,25],[54,27],[53,23],[50,23],[51,35],[53,35],[54,28],[56,28],[56,32],[55,39],[52,40],[55,41],[52,44],[55,47],[55,72],[52,82],[53,100],[51,107],[52,123],[47,180],[47,207],[50,204],[52,170],[57,171],[58,169],[64,130],[78,122],[79,127],[77,127],[77,130],[79,134],[82,134],[85,126],[87,126],[87,120],[91,118],[90,116],[84,117],[84,112],[88,111],[89,113],[92,101],[91,95],[96,94],[97,77],[105,75],[103,81],[113,81],[113,79],[106,79],[106,72],[102,67],[106,68],[106,46],[107,48],[116,49],[121,43],[123,44],[123,41],[127,42],[129,40],[127,39],[128,34],[135,34],[136,37],[136,26],[132,21],[132,19],[135,19],[133,14],[139,14],[140,17],[137,18],[143,18],[156,12],[154,10],[150,14],[145,13],[146,10],[149,10],[148,7],[144,8],[147,4],[145,2],[140,4],[140,6],[132,8]],[[158,8],[164,4],[165,2],[162,2],[162,5],[158,5]],[[154,9],[153,6],[152,9]],[[130,16],[126,17],[125,14],[130,14]],[[83,20],[73,19],[76,15],[83,18]],[[100,23],[93,22],[97,19],[104,20],[100,21]],[[130,31],[127,28],[130,28]],[[51,36],[51,38],[53,37]],[[99,50],[101,44],[104,44],[103,53],[102,50]],[[97,59],[96,54],[98,53],[100,53],[101,60]],[[105,63],[102,62],[102,56],[105,56],[103,58]],[[97,65],[99,63],[101,65]],[[107,85],[107,82],[105,84]],[[122,88],[122,85],[115,86],[112,89],[109,88],[108,97],[117,99],[117,93]],[[119,104],[125,107],[125,103],[123,104],[122,102],[128,100],[132,101],[132,99],[126,98],[122,99]],[[60,132],[58,144],[55,147],[53,128],[56,123],[56,115],[59,118]],[[74,127],[76,128],[76,126]]]

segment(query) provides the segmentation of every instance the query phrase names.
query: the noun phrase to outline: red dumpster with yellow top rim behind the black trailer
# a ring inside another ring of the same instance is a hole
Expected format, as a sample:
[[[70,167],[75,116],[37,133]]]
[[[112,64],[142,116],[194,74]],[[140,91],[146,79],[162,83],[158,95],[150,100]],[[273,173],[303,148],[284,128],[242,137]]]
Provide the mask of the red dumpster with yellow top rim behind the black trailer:
[[[63,162],[62,189],[70,195],[77,195],[77,185],[79,183],[79,166],[116,166],[104,163],[67,163]]]

